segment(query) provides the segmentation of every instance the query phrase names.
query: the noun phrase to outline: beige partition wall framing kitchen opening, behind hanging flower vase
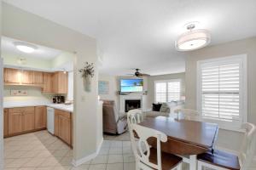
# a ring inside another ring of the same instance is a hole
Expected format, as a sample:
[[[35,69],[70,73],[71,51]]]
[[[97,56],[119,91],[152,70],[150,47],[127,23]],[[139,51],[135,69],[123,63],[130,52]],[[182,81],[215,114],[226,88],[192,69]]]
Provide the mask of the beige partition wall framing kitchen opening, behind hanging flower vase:
[[[102,135],[97,137],[97,125],[102,114],[97,114],[97,57],[96,40],[77,31],[68,29],[3,3],[3,35],[36,43],[49,48],[76,52],[74,62],[74,113],[73,113],[73,159],[74,163],[86,161],[88,156],[96,156]],[[79,68],[84,62],[95,63],[96,76],[91,81],[91,92],[84,92]]]

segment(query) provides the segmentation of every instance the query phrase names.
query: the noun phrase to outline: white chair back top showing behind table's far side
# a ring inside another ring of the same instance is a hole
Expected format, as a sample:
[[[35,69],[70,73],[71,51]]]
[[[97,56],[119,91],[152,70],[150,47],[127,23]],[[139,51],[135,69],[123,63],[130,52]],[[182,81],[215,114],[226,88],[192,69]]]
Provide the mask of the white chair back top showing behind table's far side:
[[[190,121],[201,121],[199,112],[192,109],[177,109],[174,113],[177,114],[177,119],[183,118]]]

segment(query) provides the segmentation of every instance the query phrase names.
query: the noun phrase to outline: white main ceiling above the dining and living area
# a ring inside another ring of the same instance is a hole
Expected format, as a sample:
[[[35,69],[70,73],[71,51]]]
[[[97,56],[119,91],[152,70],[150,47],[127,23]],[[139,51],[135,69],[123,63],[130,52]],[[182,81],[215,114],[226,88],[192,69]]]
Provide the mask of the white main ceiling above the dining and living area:
[[[212,34],[210,45],[256,35],[255,0],[5,0],[62,26],[96,37],[101,70],[113,75],[141,68],[151,75],[184,71],[174,41],[184,25]]]

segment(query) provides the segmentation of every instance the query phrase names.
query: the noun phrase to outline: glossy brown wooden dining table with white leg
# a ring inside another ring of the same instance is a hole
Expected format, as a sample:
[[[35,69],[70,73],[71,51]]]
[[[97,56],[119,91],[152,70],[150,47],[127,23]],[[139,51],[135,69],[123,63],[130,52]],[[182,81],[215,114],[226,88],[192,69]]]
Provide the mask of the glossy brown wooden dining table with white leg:
[[[189,163],[190,170],[196,170],[196,156],[214,150],[218,136],[218,125],[209,122],[196,122],[166,116],[146,117],[139,123],[167,135],[167,142],[161,143],[161,150],[177,156]],[[148,144],[156,147],[154,138]]]

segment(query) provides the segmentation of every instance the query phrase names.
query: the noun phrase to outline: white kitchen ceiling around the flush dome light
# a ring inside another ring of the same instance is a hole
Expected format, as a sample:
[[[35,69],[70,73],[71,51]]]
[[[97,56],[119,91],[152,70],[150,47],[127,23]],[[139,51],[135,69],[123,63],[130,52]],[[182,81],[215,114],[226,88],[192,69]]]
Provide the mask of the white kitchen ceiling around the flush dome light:
[[[44,46],[39,46],[37,44],[33,44],[37,47],[37,49],[31,54],[27,54],[27,53],[23,53],[20,50],[18,50],[15,47],[14,42],[23,42],[23,41],[9,38],[9,37],[2,37],[2,40],[1,40],[2,53],[18,55],[20,57],[33,57],[33,58],[38,58],[38,59],[55,59],[55,57],[59,56],[62,53],[61,50],[57,50],[54,48],[47,48]],[[30,43],[30,44],[32,44],[32,43]]]

